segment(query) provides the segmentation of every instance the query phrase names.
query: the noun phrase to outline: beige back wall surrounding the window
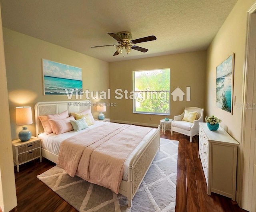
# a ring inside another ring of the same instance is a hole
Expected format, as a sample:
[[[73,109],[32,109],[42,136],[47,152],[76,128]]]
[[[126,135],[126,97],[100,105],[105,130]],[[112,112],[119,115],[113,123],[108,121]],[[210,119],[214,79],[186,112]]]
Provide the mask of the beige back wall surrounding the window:
[[[111,108],[111,120],[147,126],[157,126],[160,119],[166,116],[134,114],[132,112],[132,100],[117,100],[115,90],[120,88],[132,91],[132,72],[138,70],[154,70],[170,68],[171,70],[171,92],[177,87],[186,93],[186,87],[191,87],[191,101],[173,101],[171,98],[171,115],[179,115],[184,107],[204,107],[204,88],[206,72],[206,52],[190,52],[184,54],[172,54],[137,60],[126,60],[122,62],[111,62],[109,65],[109,80],[111,88],[111,102],[116,107]],[[152,117],[152,121],[149,120]]]

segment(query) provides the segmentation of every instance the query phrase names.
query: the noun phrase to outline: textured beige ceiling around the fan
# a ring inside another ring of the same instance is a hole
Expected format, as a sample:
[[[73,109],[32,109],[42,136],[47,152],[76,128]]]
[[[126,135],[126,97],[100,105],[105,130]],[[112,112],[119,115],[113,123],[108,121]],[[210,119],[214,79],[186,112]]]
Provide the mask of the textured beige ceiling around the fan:
[[[237,0],[0,0],[2,24],[11,30],[114,62],[206,50]],[[113,56],[107,33],[129,31],[143,53]],[[124,57],[125,56],[125,57]]]

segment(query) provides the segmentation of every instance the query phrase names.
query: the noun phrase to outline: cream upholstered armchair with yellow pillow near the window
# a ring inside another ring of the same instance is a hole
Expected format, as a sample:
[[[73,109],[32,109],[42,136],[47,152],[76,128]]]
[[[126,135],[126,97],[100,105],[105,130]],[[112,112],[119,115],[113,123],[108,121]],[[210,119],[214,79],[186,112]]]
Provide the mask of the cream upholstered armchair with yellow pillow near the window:
[[[190,107],[185,108],[179,116],[174,116],[172,121],[171,133],[178,132],[190,137],[199,133],[199,122],[203,122],[204,108]]]

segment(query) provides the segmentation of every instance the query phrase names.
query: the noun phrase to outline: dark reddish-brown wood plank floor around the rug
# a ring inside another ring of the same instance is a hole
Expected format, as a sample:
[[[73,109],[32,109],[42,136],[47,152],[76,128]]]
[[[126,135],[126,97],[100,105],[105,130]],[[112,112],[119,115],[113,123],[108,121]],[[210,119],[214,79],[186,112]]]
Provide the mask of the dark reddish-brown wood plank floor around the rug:
[[[206,182],[198,159],[198,136],[193,142],[181,134],[171,136],[170,132],[161,138],[179,140],[176,212],[246,212],[230,198],[212,193],[207,195]],[[62,200],[36,176],[55,166],[43,158],[15,167],[18,212],[74,212],[70,204]],[[70,197],[75,198],[75,197]]]

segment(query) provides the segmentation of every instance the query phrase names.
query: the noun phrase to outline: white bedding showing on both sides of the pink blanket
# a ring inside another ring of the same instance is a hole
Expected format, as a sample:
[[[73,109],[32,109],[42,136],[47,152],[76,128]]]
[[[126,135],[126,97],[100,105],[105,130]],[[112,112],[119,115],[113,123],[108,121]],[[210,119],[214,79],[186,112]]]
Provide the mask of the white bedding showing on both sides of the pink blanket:
[[[102,121],[96,121],[94,122],[93,125],[90,125],[89,128],[86,128],[84,130],[90,130],[92,128],[95,128],[97,126],[101,126],[103,124],[108,124],[108,122],[102,122]],[[70,132],[65,132],[59,135],[56,135],[54,133],[46,135],[46,133],[41,133],[39,134],[39,138],[41,138],[41,147],[44,148],[45,150],[48,150],[49,152],[52,152],[53,154],[58,155],[59,150],[60,150],[60,143],[65,140],[66,138],[70,138],[71,136],[77,135],[81,132],[84,132],[84,130],[80,130],[78,132],[70,131]],[[128,156],[126,161],[124,162],[124,174],[123,174],[123,180],[128,180],[128,167],[130,160],[134,156],[134,154],[138,151],[138,149],[154,134],[156,129],[154,128],[151,130],[138,144],[138,146],[134,149],[134,151]]]

